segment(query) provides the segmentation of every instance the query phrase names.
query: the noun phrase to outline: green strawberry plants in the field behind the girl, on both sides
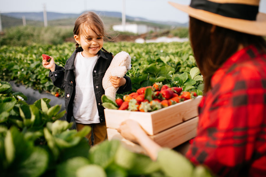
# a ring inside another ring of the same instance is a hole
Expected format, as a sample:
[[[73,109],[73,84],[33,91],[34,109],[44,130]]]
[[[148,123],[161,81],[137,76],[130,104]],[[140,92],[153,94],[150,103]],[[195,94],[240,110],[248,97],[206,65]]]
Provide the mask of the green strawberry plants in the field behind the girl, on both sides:
[[[132,81],[132,92],[155,82],[184,87],[185,78],[189,78],[190,69],[196,66],[189,42],[149,43],[106,42],[106,50],[114,55],[126,51],[132,58],[132,69],[127,75]],[[42,66],[42,54],[55,58],[56,64],[64,66],[71,56],[75,45],[66,42],[61,45],[30,45],[0,47],[0,75],[6,81],[13,80],[39,91],[56,92],[64,96],[64,90],[53,86],[48,78],[49,70]],[[184,77],[183,77],[184,76]],[[177,77],[182,77],[181,80]],[[179,82],[178,82],[179,81]],[[183,84],[183,85],[182,85]],[[190,90],[195,88],[190,88]],[[184,89],[188,91],[187,89]]]

